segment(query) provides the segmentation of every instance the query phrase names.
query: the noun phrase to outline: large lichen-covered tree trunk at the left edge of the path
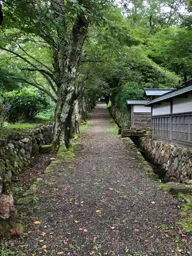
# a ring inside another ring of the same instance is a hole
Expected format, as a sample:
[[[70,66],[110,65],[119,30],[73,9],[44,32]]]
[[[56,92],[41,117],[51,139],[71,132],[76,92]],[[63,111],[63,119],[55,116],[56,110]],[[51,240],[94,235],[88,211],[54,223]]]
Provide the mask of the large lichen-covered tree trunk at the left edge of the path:
[[[75,82],[81,57],[82,46],[88,30],[88,20],[84,14],[78,15],[73,26],[71,38],[58,45],[56,61],[59,60],[60,88],[58,90],[53,129],[55,148],[70,144],[71,117],[76,100]]]

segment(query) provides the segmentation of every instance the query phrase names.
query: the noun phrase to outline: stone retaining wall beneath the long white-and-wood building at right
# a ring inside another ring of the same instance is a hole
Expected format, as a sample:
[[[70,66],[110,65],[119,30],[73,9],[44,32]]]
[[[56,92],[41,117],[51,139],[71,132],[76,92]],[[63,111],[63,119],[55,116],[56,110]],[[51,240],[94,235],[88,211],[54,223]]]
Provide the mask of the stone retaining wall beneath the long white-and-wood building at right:
[[[192,179],[192,151],[149,137],[139,138],[137,145],[148,159],[164,169],[166,182]]]

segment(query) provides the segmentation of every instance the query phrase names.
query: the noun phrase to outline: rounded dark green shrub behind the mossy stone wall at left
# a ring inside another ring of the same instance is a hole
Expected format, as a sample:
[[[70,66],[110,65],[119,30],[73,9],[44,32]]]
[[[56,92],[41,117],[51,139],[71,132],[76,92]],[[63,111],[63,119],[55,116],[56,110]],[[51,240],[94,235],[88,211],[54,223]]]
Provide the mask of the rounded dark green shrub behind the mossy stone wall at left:
[[[35,89],[23,89],[22,91],[4,92],[3,101],[11,104],[8,113],[8,121],[32,120],[36,115],[46,109],[48,102],[46,95]]]

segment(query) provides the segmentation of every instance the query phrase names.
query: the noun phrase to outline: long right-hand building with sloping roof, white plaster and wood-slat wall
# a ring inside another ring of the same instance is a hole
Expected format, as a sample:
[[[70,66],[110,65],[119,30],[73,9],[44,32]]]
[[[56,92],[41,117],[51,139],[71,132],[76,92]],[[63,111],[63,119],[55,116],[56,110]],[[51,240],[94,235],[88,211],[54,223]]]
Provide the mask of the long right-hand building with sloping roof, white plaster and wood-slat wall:
[[[192,148],[192,78],[145,106],[152,109],[152,138]]]

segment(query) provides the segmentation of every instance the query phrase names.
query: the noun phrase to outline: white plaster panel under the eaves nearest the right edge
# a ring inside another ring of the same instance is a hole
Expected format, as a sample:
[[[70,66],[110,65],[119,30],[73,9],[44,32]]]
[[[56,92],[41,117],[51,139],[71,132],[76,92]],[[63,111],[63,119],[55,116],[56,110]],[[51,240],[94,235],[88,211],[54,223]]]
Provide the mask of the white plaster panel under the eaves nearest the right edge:
[[[192,94],[188,94],[187,98],[173,99],[173,113],[192,112]]]

